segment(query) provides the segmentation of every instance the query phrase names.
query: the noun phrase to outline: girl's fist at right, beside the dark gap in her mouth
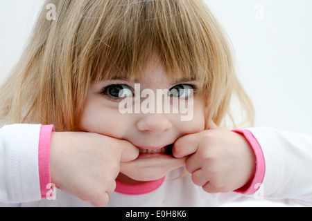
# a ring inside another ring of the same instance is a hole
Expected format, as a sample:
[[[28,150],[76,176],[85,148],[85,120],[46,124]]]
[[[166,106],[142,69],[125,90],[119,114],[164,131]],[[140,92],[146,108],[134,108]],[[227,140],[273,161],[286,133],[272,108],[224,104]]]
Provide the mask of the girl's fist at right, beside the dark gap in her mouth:
[[[241,188],[255,173],[255,156],[250,144],[241,135],[214,122],[209,130],[186,135],[173,146],[173,156],[189,155],[187,171],[194,184],[208,193],[227,193]]]

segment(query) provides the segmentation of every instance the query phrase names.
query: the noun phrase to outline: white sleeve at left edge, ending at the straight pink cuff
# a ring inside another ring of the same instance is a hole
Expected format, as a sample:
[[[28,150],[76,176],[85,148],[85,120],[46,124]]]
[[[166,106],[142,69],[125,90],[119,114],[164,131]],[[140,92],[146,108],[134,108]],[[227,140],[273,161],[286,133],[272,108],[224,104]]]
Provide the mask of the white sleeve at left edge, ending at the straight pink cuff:
[[[41,199],[38,145],[41,125],[13,124],[0,128],[0,202]]]

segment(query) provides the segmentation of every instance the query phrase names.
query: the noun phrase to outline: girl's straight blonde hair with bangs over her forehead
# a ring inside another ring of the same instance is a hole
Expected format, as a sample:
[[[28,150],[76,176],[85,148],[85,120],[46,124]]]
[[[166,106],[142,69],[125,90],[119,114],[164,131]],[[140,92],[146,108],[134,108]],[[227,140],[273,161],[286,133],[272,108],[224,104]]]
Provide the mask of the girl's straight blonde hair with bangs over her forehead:
[[[56,21],[46,19],[53,3]],[[220,125],[235,96],[253,120],[233,49],[201,0],[48,0],[21,59],[0,88],[0,124],[54,124],[76,131],[94,81],[134,78],[152,52],[168,76],[202,82],[207,121]]]

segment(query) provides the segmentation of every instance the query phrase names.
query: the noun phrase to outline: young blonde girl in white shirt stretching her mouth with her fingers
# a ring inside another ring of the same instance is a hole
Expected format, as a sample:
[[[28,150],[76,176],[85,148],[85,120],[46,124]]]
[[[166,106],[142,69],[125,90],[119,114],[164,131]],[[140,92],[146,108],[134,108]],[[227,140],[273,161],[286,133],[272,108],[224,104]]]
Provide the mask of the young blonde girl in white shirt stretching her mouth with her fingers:
[[[177,113],[121,113],[158,90]],[[237,125],[234,98],[252,124],[203,1],[46,1],[0,90],[1,205],[218,206],[259,186],[263,198],[311,205],[312,138],[221,128]]]

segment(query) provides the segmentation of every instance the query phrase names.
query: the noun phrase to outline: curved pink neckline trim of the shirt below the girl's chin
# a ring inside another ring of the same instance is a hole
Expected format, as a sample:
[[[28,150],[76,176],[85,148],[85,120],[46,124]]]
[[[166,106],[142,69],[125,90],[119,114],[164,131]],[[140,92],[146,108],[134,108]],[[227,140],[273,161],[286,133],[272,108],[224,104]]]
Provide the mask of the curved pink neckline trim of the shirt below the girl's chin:
[[[164,180],[165,177],[162,177],[162,179],[144,182],[143,184],[124,184],[116,180],[115,192],[125,195],[142,195],[157,190],[159,186],[162,186]]]

